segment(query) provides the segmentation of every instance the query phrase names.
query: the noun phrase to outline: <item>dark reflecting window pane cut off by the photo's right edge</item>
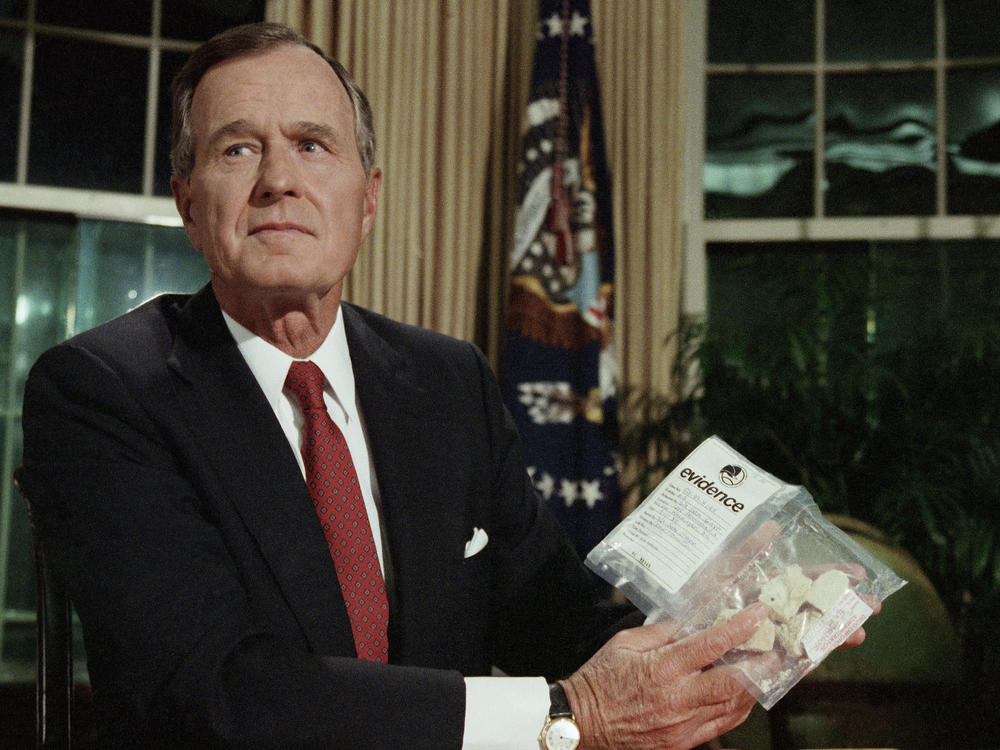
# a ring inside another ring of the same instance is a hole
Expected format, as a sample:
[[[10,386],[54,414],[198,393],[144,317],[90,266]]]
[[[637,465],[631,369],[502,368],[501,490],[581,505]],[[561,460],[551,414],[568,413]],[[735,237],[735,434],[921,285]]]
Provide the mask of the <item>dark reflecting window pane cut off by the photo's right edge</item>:
[[[948,74],[948,213],[1000,213],[1000,68]]]

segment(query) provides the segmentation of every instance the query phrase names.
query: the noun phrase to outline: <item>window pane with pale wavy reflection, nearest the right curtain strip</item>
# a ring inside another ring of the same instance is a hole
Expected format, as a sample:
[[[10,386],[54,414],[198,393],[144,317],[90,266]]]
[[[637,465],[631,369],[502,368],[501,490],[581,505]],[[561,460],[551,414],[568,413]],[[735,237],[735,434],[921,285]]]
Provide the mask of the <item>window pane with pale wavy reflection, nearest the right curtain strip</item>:
[[[710,76],[706,218],[813,213],[813,79]]]

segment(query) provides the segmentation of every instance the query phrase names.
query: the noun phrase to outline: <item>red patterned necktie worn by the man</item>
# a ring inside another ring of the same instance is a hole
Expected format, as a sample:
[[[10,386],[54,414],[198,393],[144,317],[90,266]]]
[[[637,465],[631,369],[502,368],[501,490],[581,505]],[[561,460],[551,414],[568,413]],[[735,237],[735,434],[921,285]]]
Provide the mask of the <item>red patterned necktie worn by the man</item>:
[[[285,379],[285,387],[298,398],[305,415],[306,483],[337,568],[358,657],[386,662],[389,600],[385,581],[351,452],[323,403],[324,383],[323,372],[312,362],[292,362]]]

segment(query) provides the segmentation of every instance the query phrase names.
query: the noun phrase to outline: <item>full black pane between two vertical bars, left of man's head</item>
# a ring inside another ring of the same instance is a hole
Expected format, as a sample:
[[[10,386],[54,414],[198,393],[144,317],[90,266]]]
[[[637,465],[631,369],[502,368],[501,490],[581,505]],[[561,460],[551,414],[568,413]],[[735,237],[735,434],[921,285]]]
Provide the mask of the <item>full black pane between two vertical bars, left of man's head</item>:
[[[39,37],[28,181],[140,192],[148,63],[145,50]]]

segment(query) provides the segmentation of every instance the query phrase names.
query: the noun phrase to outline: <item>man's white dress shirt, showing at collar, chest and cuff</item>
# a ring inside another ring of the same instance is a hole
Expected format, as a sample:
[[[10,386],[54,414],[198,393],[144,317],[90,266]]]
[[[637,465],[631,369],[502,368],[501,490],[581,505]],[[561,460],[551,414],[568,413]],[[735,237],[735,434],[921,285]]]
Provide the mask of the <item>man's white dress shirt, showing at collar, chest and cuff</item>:
[[[247,330],[225,312],[222,317],[278,418],[304,478],[305,464],[301,452],[304,419],[297,399],[284,389],[285,377],[294,358]],[[354,368],[347,348],[343,315],[337,315],[330,334],[309,356],[309,360],[326,377],[323,399],[351,451],[379,563],[384,571],[378,481],[354,388]],[[392,616],[391,612],[389,616]],[[544,678],[466,677],[465,702],[463,750],[537,750],[538,735],[549,709],[549,691]]]

